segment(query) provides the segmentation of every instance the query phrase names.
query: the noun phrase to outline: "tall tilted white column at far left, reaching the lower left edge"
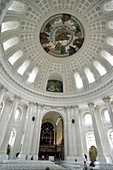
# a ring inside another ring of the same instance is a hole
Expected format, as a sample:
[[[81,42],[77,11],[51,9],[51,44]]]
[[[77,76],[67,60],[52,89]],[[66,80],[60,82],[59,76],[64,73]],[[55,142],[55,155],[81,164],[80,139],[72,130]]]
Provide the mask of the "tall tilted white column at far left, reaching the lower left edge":
[[[13,108],[12,108],[11,116],[9,118],[8,125],[7,125],[7,128],[6,128],[6,133],[5,133],[3,142],[2,142],[1,147],[0,147],[0,155],[6,154],[10,134],[11,134],[11,131],[12,131],[12,128],[13,128],[13,125],[14,125],[14,116],[15,116],[15,112],[17,110],[19,101],[20,101],[20,98],[16,96],[15,99],[14,99],[14,102],[13,102]]]

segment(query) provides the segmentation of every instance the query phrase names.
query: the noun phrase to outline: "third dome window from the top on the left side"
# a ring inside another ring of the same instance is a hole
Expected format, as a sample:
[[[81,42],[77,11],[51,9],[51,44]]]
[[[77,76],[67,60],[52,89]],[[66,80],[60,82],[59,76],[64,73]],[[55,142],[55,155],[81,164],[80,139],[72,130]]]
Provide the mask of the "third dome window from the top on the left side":
[[[8,48],[16,45],[19,42],[18,37],[13,37],[3,43],[4,50],[6,51]]]

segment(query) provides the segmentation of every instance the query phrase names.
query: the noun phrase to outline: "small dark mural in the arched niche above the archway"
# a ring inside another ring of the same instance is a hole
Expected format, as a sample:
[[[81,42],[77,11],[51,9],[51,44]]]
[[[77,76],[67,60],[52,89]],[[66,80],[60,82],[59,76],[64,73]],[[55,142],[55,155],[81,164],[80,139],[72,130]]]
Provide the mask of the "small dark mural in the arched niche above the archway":
[[[63,83],[59,80],[48,80],[46,90],[49,92],[63,92]]]

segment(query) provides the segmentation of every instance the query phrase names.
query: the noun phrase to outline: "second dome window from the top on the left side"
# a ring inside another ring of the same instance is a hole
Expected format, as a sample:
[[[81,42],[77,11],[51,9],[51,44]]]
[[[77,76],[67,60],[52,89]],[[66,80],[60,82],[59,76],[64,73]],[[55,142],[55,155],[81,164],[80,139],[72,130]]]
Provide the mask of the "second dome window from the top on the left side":
[[[18,28],[18,22],[17,21],[10,21],[10,22],[4,22],[2,23],[1,32],[9,31]]]

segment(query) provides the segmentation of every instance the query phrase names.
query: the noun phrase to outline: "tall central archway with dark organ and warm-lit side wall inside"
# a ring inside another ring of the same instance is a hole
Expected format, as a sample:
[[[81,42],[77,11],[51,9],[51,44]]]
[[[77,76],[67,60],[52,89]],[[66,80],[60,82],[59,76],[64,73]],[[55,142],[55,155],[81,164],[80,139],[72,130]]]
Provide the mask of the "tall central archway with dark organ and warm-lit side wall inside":
[[[41,125],[39,159],[64,159],[64,125],[61,115],[57,112],[45,114]]]

